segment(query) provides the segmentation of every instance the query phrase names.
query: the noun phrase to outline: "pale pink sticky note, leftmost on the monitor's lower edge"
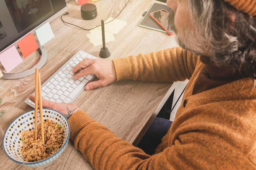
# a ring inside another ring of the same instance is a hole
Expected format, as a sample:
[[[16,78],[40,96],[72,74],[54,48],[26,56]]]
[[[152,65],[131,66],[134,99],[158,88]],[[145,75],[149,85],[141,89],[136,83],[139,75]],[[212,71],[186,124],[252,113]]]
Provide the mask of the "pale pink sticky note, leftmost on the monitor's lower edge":
[[[0,62],[4,66],[4,69],[9,73],[13,68],[23,62],[19,52],[15,46],[12,46],[7,51],[0,54]]]

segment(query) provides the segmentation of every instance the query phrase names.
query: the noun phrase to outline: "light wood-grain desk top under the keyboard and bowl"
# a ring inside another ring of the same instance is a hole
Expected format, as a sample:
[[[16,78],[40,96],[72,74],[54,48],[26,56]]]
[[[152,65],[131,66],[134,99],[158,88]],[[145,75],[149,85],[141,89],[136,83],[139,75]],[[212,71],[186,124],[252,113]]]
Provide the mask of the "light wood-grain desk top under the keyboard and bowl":
[[[175,35],[169,36],[167,33],[139,26],[143,18],[142,14],[154,2],[162,3],[156,0],[130,0],[117,17],[128,23],[115,35],[115,41],[106,43],[111,53],[106,60],[149,53],[177,45]],[[115,18],[127,0],[99,0],[93,3],[96,4],[98,11],[97,18],[94,20],[83,20],[80,13],[81,6],[78,6],[74,0],[67,2],[69,14],[64,15],[63,19],[90,29],[92,26],[101,24],[101,19]],[[45,66],[39,70],[42,83],[80,49],[97,57],[101,49],[101,46],[93,46],[89,42],[86,34],[90,31],[64,24],[60,18],[52,22],[51,27],[55,38],[44,45],[48,52],[48,59]],[[27,57],[23,65],[18,68],[36,62],[38,58],[34,59],[33,55]],[[0,117],[0,125],[5,130],[18,115],[33,109],[25,104],[24,100],[34,92],[34,74],[21,79],[0,79],[0,84],[0,98],[3,101],[0,110],[6,110],[4,116]],[[174,88],[174,84],[169,83],[125,80],[95,90],[84,91],[75,103],[93,119],[110,128],[117,136],[136,146]],[[2,170],[32,169],[11,161],[4,154],[2,147],[0,147],[0,167]],[[93,168],[74,148],[72,141],[69,141],[61,157],[48,166],[36,169],[92,170]]]

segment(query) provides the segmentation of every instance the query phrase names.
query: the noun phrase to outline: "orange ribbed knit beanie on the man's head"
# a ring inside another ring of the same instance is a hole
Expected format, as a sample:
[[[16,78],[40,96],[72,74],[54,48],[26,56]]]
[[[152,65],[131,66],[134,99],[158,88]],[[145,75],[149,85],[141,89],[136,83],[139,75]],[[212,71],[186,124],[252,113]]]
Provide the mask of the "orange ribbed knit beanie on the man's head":
[[[251,16],[256,15],[256,0],[224,0],[239,11],[248,13]]]

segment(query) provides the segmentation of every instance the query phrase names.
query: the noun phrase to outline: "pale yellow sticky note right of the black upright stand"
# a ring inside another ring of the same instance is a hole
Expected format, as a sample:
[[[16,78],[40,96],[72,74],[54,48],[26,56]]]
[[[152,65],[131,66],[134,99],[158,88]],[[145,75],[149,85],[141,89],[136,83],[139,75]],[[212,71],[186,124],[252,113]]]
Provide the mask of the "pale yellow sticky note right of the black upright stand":
[[[123,29],[124,26],[126,26],[127,24],[126,21],[122,21],[114,18],[108,18],[108,20],[104,21],[104,23],[105,23],[105,26],[104,26],[105,31],[112,34],[119,33],[119,31],[121,31],[121,29]],[[101,27],[99,26],[98,29],[101,29]]]

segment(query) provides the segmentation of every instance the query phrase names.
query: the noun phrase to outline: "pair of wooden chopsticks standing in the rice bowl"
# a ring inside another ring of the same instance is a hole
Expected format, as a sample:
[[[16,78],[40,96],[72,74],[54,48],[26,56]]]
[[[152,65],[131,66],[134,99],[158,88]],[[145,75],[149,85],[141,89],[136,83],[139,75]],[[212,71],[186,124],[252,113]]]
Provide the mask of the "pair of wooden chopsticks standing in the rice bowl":
[[[43,103],[42,103],[42,93],[41,93],[41,77],[36,68],[36,86],[35,86],[35,140],[37,139],[37,117],[38,117],[38,100],[39,100],[39,113],[41,122],[41,134],[42,141],[45,143],[45,133],[44,133],[44,121],[43,121]]]

